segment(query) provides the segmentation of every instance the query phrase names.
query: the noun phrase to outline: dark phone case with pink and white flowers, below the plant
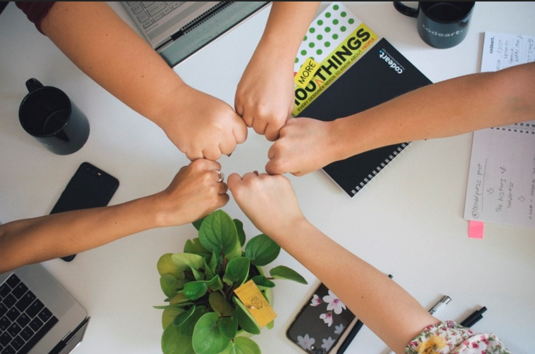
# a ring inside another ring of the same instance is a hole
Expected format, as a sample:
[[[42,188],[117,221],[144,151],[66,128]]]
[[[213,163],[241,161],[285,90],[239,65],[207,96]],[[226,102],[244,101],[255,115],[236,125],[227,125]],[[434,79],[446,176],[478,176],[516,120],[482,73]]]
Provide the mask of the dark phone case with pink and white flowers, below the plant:
[[[290,324],[286,335],[306,353],[327,354],[356,322],[355,315],[320,284]]]

